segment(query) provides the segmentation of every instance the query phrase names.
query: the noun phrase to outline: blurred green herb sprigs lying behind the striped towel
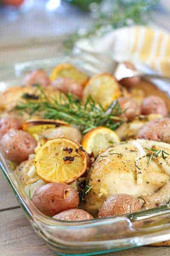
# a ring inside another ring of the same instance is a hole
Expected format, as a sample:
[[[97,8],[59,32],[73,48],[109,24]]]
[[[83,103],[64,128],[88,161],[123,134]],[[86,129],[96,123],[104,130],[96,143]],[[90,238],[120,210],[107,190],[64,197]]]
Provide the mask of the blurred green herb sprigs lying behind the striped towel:
[[[71,2],[71,1],[70,1]],[[86,1],[86,0],[74,0],[73,3],[84,7],[88,6],[91,2],[99,1]],[[113,29],[120,28],[123,26],[129,26],[132,24],[147,24],[147,20],[150,20],[150,12],[153,7],[156,6],[159,0],[113,0],[108,1],[109,11],[103,12],[102,7],[99,8],[97,18],[94,19],[94,23],[86,32],[83,34],[77,32],[70,35],[64,46],[66,50],[71,50],[74,43],[82,38],[89,38],[97,35],[101,28],[110,26]]]

